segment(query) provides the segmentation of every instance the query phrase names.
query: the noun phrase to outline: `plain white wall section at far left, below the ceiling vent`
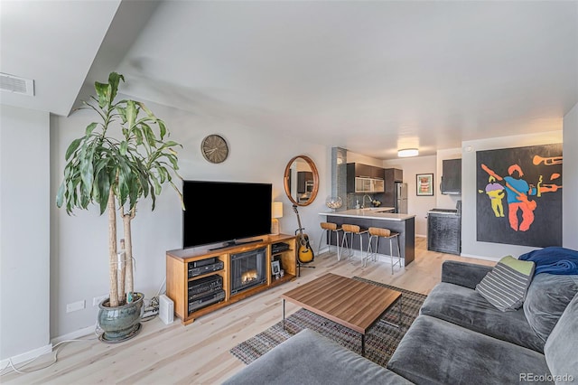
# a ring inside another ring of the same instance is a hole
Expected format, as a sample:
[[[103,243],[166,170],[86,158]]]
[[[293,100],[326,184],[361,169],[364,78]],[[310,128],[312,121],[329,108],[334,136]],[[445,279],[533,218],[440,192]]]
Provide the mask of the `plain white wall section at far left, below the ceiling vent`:
[[[49,114],[0,105],[0,359],[49,334]]]

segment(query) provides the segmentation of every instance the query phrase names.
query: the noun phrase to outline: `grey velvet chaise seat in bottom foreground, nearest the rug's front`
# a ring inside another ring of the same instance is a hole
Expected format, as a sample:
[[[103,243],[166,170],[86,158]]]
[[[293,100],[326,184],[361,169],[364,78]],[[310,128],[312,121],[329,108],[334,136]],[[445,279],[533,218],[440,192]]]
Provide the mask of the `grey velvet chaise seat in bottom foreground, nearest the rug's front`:
[[[275,346],[224,382],[235,385],[260,383],[411,384],[309,329]]]

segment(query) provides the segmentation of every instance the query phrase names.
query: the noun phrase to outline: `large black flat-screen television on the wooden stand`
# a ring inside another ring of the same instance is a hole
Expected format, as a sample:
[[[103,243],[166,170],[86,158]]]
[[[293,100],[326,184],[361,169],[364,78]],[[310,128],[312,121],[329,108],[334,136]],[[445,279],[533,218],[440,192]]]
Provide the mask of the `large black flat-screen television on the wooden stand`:
[[[182,248],[227,247],[269,234],[272,193],[271,183],[184,181]]]

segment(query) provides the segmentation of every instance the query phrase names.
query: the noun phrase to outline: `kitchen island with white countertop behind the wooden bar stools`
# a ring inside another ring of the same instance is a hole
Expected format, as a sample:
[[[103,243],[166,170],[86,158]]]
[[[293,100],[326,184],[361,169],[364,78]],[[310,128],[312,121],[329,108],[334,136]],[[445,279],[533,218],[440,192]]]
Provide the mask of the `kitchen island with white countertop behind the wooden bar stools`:
[[[320,212],[319,215],[327,217],[328,222],[337,223],[340,227],[343,223],[355,224],[362,229],[379,227],[399,233],[399,248],[401,257],[404,258],[404,266],[412,263],[415,258],[415,215],[396,214],[390,212],[390,207],[372,207],[368,209],[351,209],[343,211]],[[335,245],[336,237],[331,233],[329,243]],[[363,252],[368,251],[368,234],[363,235]],[[349,237],[348,237],[349,240]],[[395,246],[394,246],[395,248]],[[355,237],[353,249],[360,250],[359,236]],[[379,241],[378,254],[389,255],[389,242],[384,239]],[[396,256],[396,253],[394,253]]]

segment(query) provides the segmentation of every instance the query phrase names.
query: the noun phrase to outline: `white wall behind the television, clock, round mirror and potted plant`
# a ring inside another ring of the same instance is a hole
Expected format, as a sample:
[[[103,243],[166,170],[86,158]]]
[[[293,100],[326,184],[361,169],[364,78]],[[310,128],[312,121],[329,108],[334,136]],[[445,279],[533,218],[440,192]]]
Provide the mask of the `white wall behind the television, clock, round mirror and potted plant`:
[[[179,152],[181,174],[184,179],[273,183],[273,200],[284,202],[281,231],[293,234],[298,227],[291,203],[284,194],[284,168],[295,155],[307,155],[317,165],[320,190],[310,206],[299,209],[303,226],[313,241],[321,234],[318,212],[326,211],[325,197],[331,193],[331,148],[306,143],[303,138],[278,136],[256,132],[225,118],[203,114],[193,115],[174,108],[147,103],[158,117],[162,117],[172,132],[172,139],[184,148]],[[55,118],[52,124],[56,161],[51,164],[52,192],[61,182],[64,153],[70,142],[84,132],[94,116],[89,111],[70,117]],[[222,164],[209,164],[200,155],[203,137],[217,133],[230,146],[228,159]],[[330,189],[330,190],[328,190]],[[199,207],[223,202],[199,202]],[[226,204],[250,204],[242,197]],[[107,218],[97,210],[76,211],[68,216],[52,203],[54,216],[51,288],[51,335],[61,336],[94,325],[98,307],[92,306],[94,296],[107,294]],[[165,251],[178,249],[182,244],[182,211],[180,202],[170,186],[157,199],[157,208],[150,211],[150,202],[141,202],[133,225],[136,258],[135,289],[147,298],[156,295],[165,277]],[[188,210],[195,210],[190,207]],[[199,219],[202,223],[202,218]],[[66,305],[85,299],[87,309],[66,313]]]

